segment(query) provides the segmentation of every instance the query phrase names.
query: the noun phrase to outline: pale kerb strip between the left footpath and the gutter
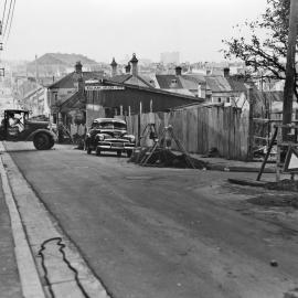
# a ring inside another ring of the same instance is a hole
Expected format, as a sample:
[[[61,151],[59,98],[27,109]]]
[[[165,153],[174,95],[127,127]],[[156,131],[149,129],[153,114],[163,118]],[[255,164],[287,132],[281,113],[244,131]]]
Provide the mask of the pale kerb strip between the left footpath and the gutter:
[[[4,151],[2,142],[0,142],[0,151]],[[9,180],[6,169],[3,167],[2,157],[0,162],[0,172],[6,203],[8,205],[11,220],[11,228],[14,241],[14,253],[19,269],[19,276],[21,279],[23,296],[25,298],[45,298],[41,280],[35,267],[35,263],[22,226],[21,217],[15,206],[11,188],[9,185]]]

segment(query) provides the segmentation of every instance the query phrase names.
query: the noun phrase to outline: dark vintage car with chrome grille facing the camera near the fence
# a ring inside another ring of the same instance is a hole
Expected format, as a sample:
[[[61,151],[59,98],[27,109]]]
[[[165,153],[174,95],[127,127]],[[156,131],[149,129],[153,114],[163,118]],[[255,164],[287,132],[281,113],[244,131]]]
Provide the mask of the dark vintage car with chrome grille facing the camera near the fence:
[[[118,157],[123,152],[130,157],[135,145],[136,138],[127,134],[126,121],[117,118],[94,119],[85,139],[87,153],[94,150],[97,156],[103,151],[114,151]]]

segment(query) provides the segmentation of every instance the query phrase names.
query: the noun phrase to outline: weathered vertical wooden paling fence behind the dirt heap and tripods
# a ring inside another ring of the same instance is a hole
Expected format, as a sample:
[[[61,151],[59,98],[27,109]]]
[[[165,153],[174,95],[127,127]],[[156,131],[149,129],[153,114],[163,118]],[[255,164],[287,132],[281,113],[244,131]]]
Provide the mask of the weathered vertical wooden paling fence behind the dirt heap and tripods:
[[[155,113],[156,129],[161,134],[164,126],[173,131],[184,148],[192,153],[205,155],[216,148],[227,159],[247,160],[249,151],[248,111],[233,107],[189,107],[170,113]],[[149,114],[124,117],[128,132],[140,136]]]

